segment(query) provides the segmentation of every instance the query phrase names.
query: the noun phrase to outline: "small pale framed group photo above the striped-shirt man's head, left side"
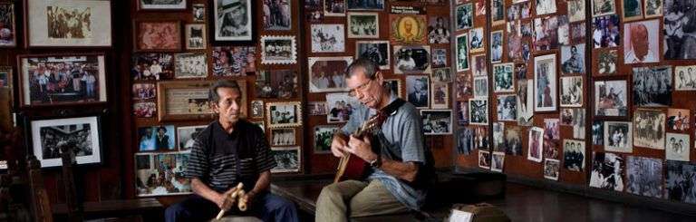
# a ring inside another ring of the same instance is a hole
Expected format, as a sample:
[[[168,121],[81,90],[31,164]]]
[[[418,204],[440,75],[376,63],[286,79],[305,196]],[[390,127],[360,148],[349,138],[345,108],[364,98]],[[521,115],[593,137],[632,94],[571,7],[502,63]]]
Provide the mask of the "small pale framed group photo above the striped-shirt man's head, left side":
[[[191,79],[208,77],[208,59],[206,53],[174,54],[174,78]]]

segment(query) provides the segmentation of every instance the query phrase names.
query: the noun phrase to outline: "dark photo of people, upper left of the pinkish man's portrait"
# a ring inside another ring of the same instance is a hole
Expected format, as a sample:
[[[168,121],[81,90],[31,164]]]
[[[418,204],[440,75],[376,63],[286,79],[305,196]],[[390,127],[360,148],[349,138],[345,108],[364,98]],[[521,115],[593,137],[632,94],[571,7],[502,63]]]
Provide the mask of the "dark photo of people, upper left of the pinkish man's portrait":
[[[592,0],[614,3],[614,0]],[[616,14],[595,17],[592,24],[592,41],[594,48],[616,47],[621,43],[621,26]]]

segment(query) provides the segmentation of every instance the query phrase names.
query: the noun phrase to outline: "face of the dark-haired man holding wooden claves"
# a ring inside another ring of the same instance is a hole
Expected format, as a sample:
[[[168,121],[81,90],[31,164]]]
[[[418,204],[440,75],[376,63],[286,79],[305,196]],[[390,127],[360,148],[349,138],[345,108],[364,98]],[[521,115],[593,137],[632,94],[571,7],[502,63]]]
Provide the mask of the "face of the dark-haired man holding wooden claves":
[[[219,114],[219,121],[235,123],[239,120],[242,94],[237,89],[218,88],[219,101],[212,104],[213,111]]]

